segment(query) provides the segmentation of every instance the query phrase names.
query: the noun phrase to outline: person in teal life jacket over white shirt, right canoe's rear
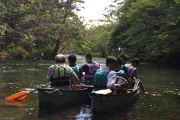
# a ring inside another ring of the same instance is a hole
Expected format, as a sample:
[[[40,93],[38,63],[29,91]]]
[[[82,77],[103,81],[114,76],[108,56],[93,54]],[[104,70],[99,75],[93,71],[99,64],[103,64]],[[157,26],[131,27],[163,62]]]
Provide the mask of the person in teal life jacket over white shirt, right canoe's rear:
[[[116,89],[120,84],[116,84],[116,72],[114,71],[117,65],[117,58],[114,56],[106,57],[106,67],[96,71],[94,76],[94,91],[101,89]]]

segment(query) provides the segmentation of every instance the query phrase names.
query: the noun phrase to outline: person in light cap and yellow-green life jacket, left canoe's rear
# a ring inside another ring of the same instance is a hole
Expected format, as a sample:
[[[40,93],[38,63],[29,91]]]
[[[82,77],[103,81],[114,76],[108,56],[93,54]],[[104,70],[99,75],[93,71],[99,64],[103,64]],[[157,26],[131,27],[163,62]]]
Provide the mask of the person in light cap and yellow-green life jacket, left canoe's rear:
[[[47,79],[51,81],[51,87],[67,90],[77,90],[78,77],[71,67],[66,65],[66,58],[63,54],[55,56],[55,64],[48,69]],[[70,80],[74,80],[71,88]]]

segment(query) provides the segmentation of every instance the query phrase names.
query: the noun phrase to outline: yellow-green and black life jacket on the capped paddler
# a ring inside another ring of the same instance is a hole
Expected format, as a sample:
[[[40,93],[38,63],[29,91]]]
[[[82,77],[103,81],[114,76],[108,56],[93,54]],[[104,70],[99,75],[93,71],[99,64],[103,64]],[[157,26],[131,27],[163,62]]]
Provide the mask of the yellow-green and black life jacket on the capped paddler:
[[[53,74],[51,75],[52,86],[68,86],[70,85],[70,70],[64,65],[56,66]]]

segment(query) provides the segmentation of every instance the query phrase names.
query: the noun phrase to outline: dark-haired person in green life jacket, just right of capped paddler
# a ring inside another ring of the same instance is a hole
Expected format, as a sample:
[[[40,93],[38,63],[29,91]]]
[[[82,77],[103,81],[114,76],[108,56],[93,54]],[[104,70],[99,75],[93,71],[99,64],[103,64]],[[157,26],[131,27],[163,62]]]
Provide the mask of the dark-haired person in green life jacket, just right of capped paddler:
[[[78,65],[76,65],[76,61],[77,61],[76,55],[71,54],[68,56],[69,66],[74,70],[74,72],[78,76],[78,78],[79,78],[78,84],[80,84],[81,83],[80,75],[79,75],[79,68],[80,67]],[[74,84],[74,80],[71,80],[71,84]]]

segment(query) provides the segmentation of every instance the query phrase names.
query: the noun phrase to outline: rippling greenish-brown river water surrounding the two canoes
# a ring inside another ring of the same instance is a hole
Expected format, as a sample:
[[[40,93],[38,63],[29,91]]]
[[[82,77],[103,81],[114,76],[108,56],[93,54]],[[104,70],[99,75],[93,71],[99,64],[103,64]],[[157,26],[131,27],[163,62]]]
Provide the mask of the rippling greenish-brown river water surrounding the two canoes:
[[[93,60],[105,66],[104,58]],[[84,56],[78,56],[77,64],[84,63]],[[147,93],[140,92],[131,106],[104,114],[93,115],[90,105],[40,110],[36,92],[28,94],[22,102],[3,100],[49,83],[46,74],[51,64],[54,61],[0,61],[0,120],[180,120],[180,68],[152,64],[141,64],[138,68]]]

